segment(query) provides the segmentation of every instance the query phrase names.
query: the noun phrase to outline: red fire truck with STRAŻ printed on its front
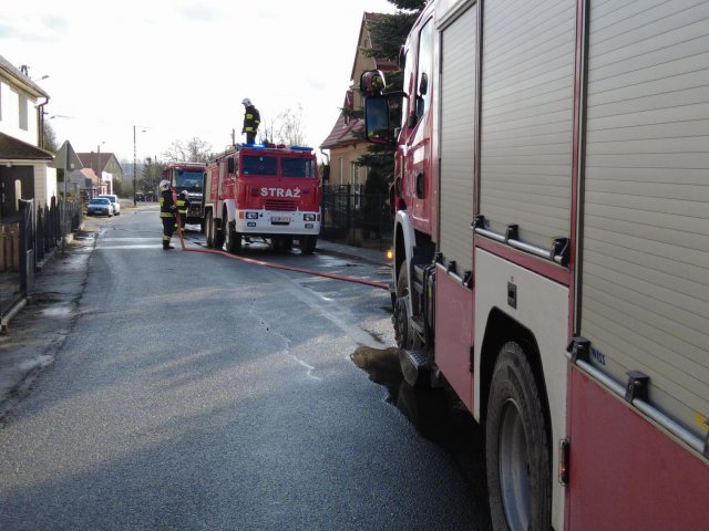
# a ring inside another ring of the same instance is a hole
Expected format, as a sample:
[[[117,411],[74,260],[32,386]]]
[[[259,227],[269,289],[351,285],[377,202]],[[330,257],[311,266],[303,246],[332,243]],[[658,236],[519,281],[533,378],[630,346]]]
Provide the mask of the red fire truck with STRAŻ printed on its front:
[[[207,246],[242,249],[243,237],[263,237],[276,249],[294,240],[305,254],[320,233],[322,192],[310,147],[244,144],[212,160],[205,171]]]

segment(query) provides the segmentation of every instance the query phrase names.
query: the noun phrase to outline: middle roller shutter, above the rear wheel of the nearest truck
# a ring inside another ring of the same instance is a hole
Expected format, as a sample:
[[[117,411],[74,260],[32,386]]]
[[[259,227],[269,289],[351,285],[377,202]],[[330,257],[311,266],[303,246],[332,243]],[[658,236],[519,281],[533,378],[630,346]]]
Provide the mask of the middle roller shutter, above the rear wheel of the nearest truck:
[[[480,214],[551,249],[571,230],[575,0],[484,4]]]

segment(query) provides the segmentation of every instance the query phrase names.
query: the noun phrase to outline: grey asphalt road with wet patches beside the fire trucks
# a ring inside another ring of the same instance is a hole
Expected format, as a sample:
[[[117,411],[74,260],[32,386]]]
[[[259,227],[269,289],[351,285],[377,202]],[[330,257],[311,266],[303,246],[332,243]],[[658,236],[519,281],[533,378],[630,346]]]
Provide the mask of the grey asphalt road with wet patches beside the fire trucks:
[[[402,387],[386,291],[163,251],[154,210],[100,225],[71,331],[0,429],[0,529],[487,529],[479,434]]]

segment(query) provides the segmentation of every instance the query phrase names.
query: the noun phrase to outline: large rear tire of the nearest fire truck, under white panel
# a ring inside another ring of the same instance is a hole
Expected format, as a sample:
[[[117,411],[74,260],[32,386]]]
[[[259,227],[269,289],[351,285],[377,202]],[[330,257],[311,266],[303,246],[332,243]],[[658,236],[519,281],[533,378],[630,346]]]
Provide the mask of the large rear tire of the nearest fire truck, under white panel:
[[[552,466],[542,396],[524,350],[506,343],[487,402],[486,461],[494,529],[552,528]]]

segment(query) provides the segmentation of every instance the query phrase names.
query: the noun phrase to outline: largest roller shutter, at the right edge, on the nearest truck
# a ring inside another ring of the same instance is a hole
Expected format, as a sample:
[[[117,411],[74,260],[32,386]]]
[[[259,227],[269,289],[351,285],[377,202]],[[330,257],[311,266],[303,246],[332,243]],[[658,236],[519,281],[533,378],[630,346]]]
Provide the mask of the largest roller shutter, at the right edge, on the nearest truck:
[[[592,2],[589,30],[582,335],[705,434],[709,2]]]

